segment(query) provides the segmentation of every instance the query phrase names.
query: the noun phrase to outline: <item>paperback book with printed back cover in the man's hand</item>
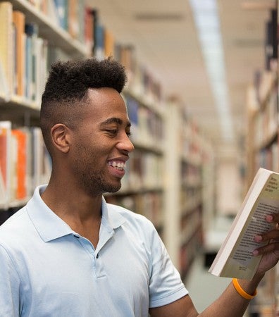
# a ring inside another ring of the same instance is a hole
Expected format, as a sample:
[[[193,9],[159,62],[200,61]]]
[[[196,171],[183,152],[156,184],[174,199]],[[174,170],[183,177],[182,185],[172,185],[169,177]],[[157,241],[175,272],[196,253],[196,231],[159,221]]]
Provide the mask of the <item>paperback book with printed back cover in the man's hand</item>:
[[[254,242],[254,236],[273,228],[273,224],[266,222],[266,216],[278,211],[279,173],[260,168],[209,272],[251,280],[261,260],[252,251],[266,244]]]

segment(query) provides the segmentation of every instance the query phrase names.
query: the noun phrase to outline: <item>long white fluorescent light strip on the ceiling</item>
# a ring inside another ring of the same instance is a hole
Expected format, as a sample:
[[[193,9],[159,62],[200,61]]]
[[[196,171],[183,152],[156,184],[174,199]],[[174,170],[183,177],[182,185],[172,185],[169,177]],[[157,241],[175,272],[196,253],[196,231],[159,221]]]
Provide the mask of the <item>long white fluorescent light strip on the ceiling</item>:
[[[199,42],[202,47],[206,71],[211,82],[223,139],[233,140],[233,122],[225,76],[223,44],[216,0],[190,0]]]

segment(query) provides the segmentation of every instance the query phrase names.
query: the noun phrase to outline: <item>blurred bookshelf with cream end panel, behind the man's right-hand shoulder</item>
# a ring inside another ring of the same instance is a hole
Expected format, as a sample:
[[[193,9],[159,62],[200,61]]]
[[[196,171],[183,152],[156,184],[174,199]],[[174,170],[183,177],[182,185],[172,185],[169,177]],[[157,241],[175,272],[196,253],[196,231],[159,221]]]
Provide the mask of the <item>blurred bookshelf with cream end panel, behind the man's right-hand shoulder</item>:
[[[203,186],[212,149],[205,146],[205,138],[179,99],[168,100],[166,117],[163,236],[173,262],[185,278],[203,245],[204,197],[209,199],[209,205],[213,199],[213,195],[205,194]]]

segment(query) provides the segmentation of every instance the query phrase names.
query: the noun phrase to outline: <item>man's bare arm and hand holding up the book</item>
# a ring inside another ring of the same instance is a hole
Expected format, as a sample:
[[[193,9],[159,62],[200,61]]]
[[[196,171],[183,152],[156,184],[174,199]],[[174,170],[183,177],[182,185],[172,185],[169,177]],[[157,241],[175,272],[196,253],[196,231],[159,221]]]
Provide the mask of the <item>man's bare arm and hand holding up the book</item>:
[[[256,252],[254,252],[255,256],[262,255],[259,268],[252,280],[238,280],[242,290],[248,294],[254,294],[266,271],[273,268],[279,260],[279,215],[273,214],[273,216],[267,216],[266,220],[269,223],[277,224],[275,230],[271,230],[255,238],[256,242],[270,242],[266,246],[256,249]],[[243,316],[248,304],[249,300],[244,299],[235,289],[233,282],[230,282],[230,285],[228,285],[223,294],[200,314],[194,308],[190,296],[187,295],[166,306],[150,309],[150,315],[152,317],[240,317]]]

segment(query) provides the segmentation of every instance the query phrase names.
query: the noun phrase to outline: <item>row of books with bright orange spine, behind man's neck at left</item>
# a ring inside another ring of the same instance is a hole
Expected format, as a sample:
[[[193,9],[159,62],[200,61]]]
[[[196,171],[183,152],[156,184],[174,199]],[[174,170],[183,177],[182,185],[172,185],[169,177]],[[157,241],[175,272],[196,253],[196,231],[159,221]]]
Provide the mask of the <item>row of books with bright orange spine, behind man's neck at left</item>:
[[[20,206],[48,182],[51,160],[39,128],[12,128],[0,121],[0,207]]]

